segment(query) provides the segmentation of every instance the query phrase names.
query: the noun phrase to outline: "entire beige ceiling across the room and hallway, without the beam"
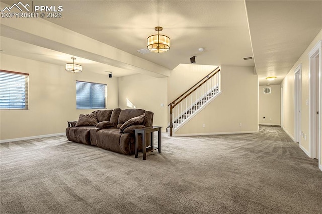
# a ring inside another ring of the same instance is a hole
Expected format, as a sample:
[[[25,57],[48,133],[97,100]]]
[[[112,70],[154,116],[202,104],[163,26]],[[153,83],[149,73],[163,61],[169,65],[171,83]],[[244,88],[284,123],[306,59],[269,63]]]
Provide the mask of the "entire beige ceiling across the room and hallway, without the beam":
[[[9,6],[17,3],[0,2]],[[47,21],[168,69],[190,63],[193,55],[197,55],[197,64],[256,66],[260,85],[267,84],[265,77],[272,75],[278,77],[272,84],[279,84],[322,29],[322,1],[111,0],[32,3],[61,5],[62,17],[47,18]],[[162,26],[161,33],[170,37],[170,50],[160,54],[137,52],[146,48],[147,37],[156,33],[155,26]],[[52,50],[26,41],[16,43],[8,34],[0,33],[0,47],[5,50],[2,54],[60,65],[71,57],[63,49]],[[198,48],[204,48],[204,51],[199,52]],[[249,56],[254,56],[254,60],[243,60]],[[136,73],[135,70],[111,66],[93,58],[77,57],[77,62],[85,64],[82,65],[92,72],[112,71],[113,76]]]

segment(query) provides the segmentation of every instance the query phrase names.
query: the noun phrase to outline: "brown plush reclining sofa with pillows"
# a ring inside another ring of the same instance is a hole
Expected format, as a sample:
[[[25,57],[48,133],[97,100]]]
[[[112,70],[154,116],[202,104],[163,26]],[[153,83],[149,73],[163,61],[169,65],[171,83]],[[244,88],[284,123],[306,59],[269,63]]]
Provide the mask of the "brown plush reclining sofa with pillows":
[[[78,121],[67,127],[66,136],[69,141],[132,155],[135,153],[134,128],[152,125],[153,112],[143,109],[97,110],[80,115]],[[142,143],[138,145],[141,149]]]

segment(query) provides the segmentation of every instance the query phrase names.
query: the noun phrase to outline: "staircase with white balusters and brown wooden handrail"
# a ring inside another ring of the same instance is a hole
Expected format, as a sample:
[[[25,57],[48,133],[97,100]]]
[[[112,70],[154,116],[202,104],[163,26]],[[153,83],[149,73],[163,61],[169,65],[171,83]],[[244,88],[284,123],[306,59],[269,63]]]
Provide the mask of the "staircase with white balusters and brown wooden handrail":
[[[217,67],[168,106],[170,108],[170,136],[198,114],[220,94],[220,68]]]

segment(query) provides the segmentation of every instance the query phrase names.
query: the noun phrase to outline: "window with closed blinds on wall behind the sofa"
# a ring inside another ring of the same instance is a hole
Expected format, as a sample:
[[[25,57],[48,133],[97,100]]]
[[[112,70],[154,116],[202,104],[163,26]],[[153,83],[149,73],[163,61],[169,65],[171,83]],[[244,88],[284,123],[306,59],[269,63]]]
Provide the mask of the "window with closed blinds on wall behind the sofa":
[[[106,88],[104,84],[76,81],[77,109],[105,109]]]

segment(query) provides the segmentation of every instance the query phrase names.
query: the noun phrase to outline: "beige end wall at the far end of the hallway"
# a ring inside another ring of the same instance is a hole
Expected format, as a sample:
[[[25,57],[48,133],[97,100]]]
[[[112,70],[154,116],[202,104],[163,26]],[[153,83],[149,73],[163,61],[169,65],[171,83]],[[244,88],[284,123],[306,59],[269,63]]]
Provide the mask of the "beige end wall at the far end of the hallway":
[[[264,94],[263,89],[271,88],[270,94]],[[281,125],[280,85],[259,86],[259,124]],[[263,119],[265,117],[265,120]]]

